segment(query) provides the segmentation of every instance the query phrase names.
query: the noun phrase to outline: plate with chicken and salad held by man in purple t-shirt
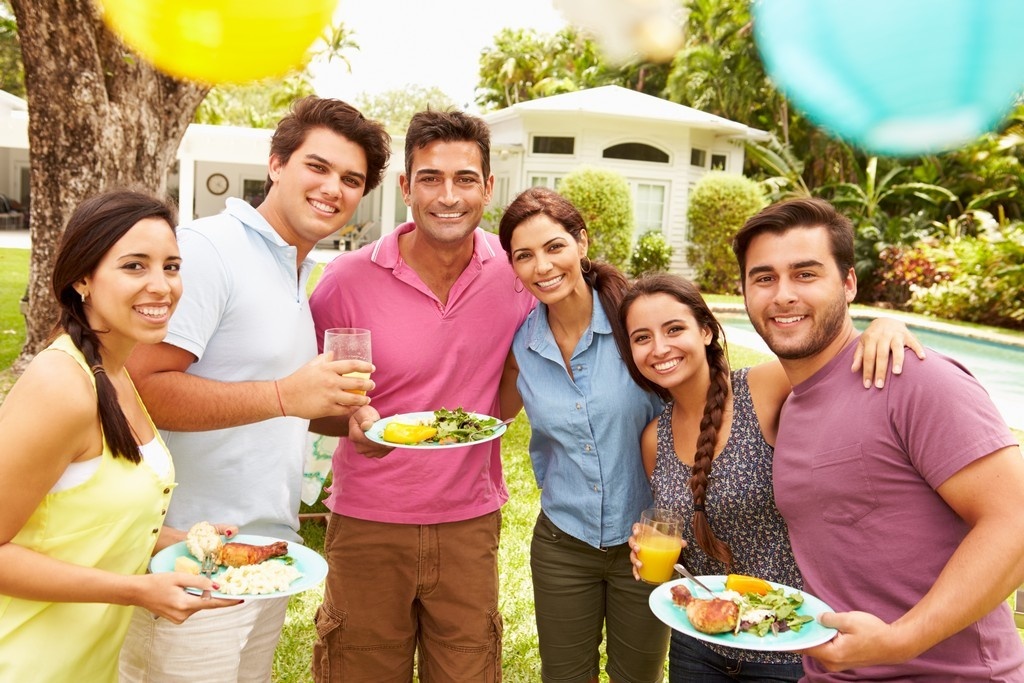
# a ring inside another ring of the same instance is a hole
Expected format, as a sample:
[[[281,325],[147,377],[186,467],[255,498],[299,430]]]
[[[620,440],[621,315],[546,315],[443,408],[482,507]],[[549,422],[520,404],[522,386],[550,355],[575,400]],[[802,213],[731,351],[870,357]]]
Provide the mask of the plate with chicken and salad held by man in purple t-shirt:
[[[662,584],[650,594],[650,609],[697,640],[743,650],[801,650],[826,643],[838,633],[818,623],[818,615],[833,608],[813,595],[783,584],[731,577],[739,581],[697,577],[714,598],[688,579]],[[736,590],[726,589],[727,580]]]

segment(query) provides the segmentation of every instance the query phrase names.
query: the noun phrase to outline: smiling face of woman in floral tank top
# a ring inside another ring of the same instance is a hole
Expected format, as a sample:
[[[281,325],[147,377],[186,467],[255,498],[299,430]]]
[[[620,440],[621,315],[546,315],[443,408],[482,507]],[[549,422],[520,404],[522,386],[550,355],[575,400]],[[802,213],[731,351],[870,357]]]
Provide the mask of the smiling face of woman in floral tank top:
[[[626,313],[626,334],[633,362],[654,384],[673,389],[709,382],[712,332],[676,297],[662,292],[637,297]]]

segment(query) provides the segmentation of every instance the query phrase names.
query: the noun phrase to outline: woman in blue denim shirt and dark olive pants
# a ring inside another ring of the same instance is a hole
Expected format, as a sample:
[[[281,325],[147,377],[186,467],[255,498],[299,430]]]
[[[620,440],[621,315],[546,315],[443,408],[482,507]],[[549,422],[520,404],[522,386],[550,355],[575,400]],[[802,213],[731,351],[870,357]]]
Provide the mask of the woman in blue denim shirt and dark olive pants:
[[[615,347],[628,283],[587,257],[583,217],[552,190],[519,195],[499,237],[514,286],[540,301],[512,343],[502,415],[525,408],[542,488],[530,546],[542,678],[597,681],[604,631],[611,681],[660,681],[669,630],[647,605],[653,587],[633,580],[627,541],[651,504],[640,435],[662,404]]]

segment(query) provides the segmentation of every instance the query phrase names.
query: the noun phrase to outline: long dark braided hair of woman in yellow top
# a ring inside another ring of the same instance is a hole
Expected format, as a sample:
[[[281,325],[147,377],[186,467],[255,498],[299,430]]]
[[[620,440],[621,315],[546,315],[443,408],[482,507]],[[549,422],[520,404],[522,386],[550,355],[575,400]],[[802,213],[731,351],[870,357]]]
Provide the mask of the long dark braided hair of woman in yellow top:
[[[103,370],[99,336],[89,327],[85,302],[75,290],[75,283],[92,274],[111,247],[145,218],[165,220],[172,230],[177,222],[172,205],[143,193],[114,190],[82,202],[60,238],[51,279],[53,295],[60,307],[54,334],[67,332],[92,369],[99,424],[111,453],[115,458],[136,464],[140,460],[138,444],[118,403],[117,390]]]

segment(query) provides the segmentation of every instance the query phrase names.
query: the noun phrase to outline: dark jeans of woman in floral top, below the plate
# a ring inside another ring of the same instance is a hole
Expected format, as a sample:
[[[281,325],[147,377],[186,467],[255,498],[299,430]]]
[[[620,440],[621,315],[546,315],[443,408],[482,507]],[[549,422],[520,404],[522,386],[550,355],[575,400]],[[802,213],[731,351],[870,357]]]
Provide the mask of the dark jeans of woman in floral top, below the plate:
[[[669,647],[669,683],[795,682],[799,664],[761,664],[724,657],[699,640],[674,631]]]

